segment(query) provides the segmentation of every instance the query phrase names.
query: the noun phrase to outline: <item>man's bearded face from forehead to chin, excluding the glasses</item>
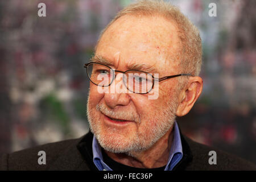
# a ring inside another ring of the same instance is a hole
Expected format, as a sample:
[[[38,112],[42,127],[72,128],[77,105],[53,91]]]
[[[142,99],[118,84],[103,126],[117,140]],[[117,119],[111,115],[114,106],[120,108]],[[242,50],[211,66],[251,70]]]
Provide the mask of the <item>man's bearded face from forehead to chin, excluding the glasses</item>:
[[[160,17],[125,15],[102,35],[96,55],[108,59],[113,69],[123,72],[131,64],[149,65],[161,78],[179,74],[178,49],[173,23]],[[115,83],[119,81],[122,79]],[[99,93],[97,85],[90,82],[90,129],[105,150],[128,154],[147,150],[172,127],[179,96],[177,78],[159,82],[156,100],[148,100],[148,94]]]

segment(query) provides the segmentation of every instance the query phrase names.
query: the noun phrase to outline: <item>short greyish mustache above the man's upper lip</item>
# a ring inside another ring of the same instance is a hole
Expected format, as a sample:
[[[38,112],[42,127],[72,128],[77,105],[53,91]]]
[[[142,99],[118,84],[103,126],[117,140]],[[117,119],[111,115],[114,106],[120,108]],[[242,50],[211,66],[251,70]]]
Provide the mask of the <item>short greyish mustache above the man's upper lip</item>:
[[[96,105],[96,110],[101,111],[101,113],[107,115],[110,118],[115,118],[115,119],[122,119],[126,121],[135,121],[140,123],[141,120],[137,119],[136,115],[134,113],[131,113],[129,111],[113,111],[112,109],[109,109],[108,107],[104,105],[97,104]]]

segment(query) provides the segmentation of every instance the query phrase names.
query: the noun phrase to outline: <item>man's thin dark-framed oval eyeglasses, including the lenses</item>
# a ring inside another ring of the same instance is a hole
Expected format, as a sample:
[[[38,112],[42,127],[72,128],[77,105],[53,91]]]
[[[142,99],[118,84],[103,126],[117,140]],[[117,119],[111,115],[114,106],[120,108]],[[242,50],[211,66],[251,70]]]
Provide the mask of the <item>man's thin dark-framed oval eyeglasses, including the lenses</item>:
[[[114,70],[108,65],[90,62],[84,65],[89,80],[98,86],[109,86],[115,79],[115,72],[123,73],[122,80],[126,88],[133,93],[146,94],[154,86],[154,82],[163,81],[178,76],[191,76],[191,74],[179,74],[155,78],[151,73],[138,70],[127,70],[125,72]]]

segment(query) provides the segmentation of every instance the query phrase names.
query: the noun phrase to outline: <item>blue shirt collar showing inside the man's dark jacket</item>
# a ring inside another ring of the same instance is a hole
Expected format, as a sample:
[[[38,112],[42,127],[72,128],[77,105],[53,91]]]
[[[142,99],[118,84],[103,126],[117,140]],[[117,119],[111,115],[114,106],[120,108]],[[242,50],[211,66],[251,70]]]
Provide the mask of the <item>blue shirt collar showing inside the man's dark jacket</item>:
[[[169,159],[168,159],[166,168],[164,168],[164,171],[172,171],[172,169],[176,166],[177,163],[179,163],[179,161],[183,157],[180,131],[176,121],[174,122],[173,132],[174,132],[174,139],[172,140]],[[98,168],[98,170],[113,171],[106,163],[104,163],[102,153],[101,153],[101,147],[95,136],[93,136],[92,150],[93,150],[93,163]]]

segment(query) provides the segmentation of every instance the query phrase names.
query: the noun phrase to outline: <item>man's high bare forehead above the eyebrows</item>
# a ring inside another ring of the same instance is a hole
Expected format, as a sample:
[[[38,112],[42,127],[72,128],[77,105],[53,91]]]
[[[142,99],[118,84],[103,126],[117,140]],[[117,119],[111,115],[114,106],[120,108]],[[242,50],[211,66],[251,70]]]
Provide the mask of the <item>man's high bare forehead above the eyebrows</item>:
[[[125,15],[102,35],[96,55],[117,66],[147,64],[158,69],[175,69],[179,38],[176,25],[160,16]]]

